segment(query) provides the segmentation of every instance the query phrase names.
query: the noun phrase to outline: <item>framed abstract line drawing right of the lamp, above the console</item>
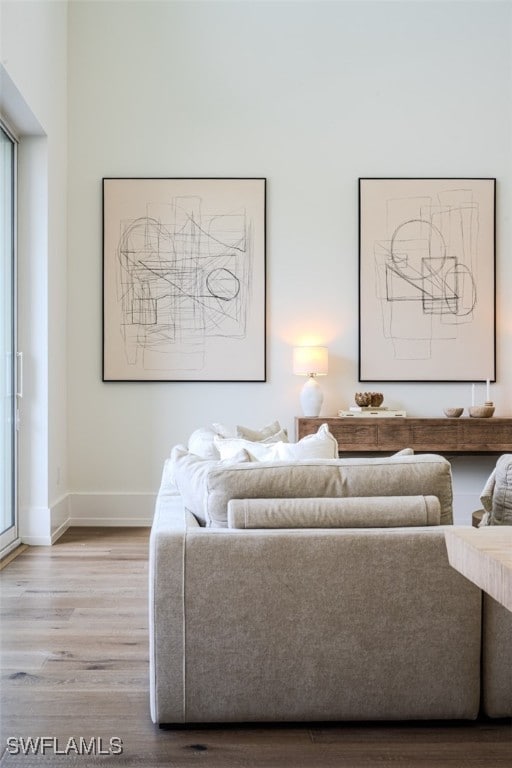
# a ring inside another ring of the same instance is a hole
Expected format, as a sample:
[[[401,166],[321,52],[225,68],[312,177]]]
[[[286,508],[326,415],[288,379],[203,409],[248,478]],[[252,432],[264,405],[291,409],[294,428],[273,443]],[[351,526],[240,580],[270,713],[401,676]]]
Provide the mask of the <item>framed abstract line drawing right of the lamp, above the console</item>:
[[[359,179],[359,380],[495,380],[495,179]]]

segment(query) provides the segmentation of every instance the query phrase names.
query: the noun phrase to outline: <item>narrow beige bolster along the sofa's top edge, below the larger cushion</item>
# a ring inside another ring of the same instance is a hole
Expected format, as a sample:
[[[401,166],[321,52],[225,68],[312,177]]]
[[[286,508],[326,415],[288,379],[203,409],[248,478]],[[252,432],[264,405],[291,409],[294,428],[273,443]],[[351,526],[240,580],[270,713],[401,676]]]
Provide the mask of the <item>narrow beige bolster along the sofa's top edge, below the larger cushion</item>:
[[[439,525],[437,496],[231,499],[228,528],[390,528]]]

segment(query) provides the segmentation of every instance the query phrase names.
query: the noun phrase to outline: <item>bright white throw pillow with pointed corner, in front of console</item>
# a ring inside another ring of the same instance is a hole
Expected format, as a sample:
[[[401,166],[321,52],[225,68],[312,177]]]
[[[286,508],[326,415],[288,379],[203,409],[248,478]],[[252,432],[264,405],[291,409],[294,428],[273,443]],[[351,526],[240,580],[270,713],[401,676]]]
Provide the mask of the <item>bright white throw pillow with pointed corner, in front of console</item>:
[[[215,446],[222,459],[231,458],[239,450],[246,450],[256,461],[294,461],[298,459],[334,459],[338,455],[338,442],[322,424],[313,435],[307,435],[297,443],[254,442],[242,438],[215,439]]]

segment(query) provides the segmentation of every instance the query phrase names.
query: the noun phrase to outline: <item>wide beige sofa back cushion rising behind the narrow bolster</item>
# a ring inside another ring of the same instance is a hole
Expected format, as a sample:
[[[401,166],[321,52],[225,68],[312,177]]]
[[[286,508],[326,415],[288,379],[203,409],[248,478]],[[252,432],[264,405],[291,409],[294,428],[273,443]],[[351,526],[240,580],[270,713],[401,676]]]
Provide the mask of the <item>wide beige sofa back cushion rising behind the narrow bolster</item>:
[[[227,527],[231,499],[417,495],[437,496],[441,523],[453,522],[450,463],[434,454],[217,465],[201,473],[200,481],[196,494],[202,495],[210,526]]]

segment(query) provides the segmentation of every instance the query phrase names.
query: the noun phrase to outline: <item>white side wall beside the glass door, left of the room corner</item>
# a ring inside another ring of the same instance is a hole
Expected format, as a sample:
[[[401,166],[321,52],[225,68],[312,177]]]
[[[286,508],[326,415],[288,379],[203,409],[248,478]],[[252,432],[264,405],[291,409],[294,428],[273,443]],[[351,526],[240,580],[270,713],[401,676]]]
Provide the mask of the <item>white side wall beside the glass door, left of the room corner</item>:
[[[67,511],[67,3],[0,4],[1,106],[19,146],[20,529],[49,543]]]

